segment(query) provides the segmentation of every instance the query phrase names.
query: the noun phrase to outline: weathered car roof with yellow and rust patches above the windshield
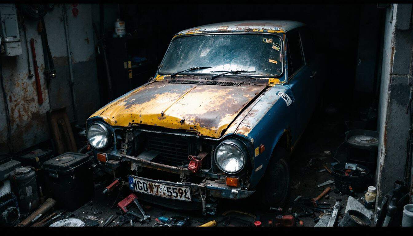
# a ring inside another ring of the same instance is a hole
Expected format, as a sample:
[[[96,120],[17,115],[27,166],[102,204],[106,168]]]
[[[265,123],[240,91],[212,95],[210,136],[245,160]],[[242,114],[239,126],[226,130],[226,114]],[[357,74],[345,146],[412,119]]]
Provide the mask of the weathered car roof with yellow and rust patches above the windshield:
[[[287,20],[254,20],[254,21],[230,21],[215,24],[207,24],[185,29],[176,36],[192,33],[211,32],[263,32],[263,33],[286,33],[292,29],[304,26],[304,23]]]

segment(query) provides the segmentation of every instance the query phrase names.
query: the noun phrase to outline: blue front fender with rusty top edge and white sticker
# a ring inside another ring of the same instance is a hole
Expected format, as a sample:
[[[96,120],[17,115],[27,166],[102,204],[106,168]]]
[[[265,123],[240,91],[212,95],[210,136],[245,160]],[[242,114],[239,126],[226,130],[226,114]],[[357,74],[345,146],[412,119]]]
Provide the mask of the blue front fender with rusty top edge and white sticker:
[[[264,175],[272,152],[282,135],[285,132],[290,134],[295,128],[295,109],[290,88],[275,85],[259,96],[235,129],[234,134],[249,140],[253,147],[250,150],[250,188],[254,188]],[[261,145],[265,150],[260,151]]]

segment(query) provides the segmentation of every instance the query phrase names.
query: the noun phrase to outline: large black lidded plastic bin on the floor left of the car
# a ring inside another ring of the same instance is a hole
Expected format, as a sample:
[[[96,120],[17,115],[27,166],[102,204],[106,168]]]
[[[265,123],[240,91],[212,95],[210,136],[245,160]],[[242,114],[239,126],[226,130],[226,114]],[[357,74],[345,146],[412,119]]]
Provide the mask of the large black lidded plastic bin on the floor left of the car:
[[[87,154],[64,153],[43,163],[46,185],[59,208],[74,211],[94,196],[92,159]]]

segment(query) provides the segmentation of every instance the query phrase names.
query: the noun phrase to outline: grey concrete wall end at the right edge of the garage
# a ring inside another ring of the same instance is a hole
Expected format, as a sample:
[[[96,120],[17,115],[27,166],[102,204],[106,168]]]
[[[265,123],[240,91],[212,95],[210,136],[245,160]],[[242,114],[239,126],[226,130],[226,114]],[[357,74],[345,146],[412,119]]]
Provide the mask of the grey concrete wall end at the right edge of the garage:
[[[393,4],[387,9],[378,116],[377,204],[395,180],[404,180],[410,126],[406,106],[412,69],[411,19],[412,4]]]

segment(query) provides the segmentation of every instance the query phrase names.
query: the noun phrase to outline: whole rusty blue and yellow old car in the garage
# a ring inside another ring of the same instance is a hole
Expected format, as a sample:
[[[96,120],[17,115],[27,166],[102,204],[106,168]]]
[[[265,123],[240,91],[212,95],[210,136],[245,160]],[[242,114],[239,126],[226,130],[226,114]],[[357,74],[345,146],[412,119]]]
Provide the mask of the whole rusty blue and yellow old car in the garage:
[[[221,198],[254,196],[282,206],[320,91],[310,33],[283,20],[180,31],[148,83],[88,118],[96,168],[175,209],[214,214]]]

